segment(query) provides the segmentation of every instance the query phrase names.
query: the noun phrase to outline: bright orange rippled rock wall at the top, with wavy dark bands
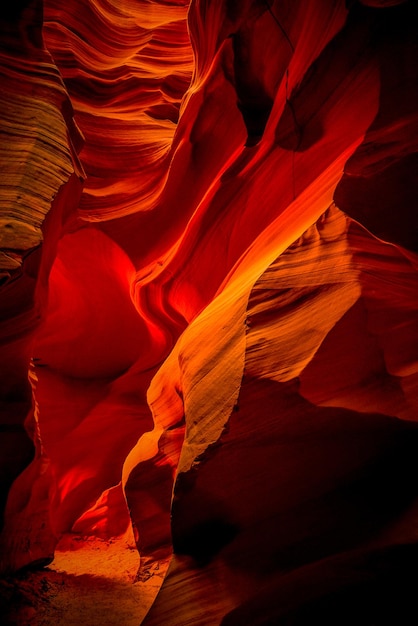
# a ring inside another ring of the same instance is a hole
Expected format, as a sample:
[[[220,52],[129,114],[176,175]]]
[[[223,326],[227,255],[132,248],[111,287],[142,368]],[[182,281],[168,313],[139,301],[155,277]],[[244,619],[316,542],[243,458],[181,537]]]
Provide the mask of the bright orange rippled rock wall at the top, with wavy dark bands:
[[[44,2],[45,42],[86,138],[80,212],[92,221],[156,205],[193,69],[187,2],[119,4]]]

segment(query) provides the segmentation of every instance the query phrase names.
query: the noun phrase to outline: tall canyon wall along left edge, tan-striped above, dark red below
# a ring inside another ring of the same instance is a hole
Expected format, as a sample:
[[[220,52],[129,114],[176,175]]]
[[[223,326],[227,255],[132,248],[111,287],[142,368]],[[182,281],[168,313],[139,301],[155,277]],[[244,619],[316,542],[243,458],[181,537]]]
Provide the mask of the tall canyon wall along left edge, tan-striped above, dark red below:
[[[58,69],[43,45],[42,5],[1,10],[0,277],[2,568],[53,555],[51,475],[33,423],[28,369],[62,224],[80,197],[82,136]],[[46,238],[43,253],[40,245]],[[28,416],[28,417],[27,417]],[[28,554],[28,537],[32,549]]]

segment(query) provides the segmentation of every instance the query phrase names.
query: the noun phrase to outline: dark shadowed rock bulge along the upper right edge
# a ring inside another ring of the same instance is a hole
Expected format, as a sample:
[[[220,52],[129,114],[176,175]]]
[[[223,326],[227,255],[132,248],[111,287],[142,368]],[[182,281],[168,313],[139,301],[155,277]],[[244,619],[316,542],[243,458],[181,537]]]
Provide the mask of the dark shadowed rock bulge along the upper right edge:
[[[379,111],[345,166],[336,205],[378,237],[418,250],[418,28],[416,3],[383,10],[374,48],[380,70]]]

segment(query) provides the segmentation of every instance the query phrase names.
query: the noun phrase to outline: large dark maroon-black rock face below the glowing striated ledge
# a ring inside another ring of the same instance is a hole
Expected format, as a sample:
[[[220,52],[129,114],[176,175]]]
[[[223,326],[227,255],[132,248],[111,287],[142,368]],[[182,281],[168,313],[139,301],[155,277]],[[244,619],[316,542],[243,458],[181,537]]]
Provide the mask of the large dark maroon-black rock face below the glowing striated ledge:
[[[416,424],[266,380],[244,382],[240,407],[176,484],[174,550],[196,566],[219,555],[256,577],[289,571],[355,549],[417,498]]]

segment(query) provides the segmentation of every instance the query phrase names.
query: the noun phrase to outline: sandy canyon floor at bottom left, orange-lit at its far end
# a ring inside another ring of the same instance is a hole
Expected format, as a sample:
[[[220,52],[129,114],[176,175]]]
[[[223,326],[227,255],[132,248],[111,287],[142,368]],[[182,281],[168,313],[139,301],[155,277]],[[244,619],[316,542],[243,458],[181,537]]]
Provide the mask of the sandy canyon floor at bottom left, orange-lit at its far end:
[[[163,572],[156,568],[146,582],[135,582],[138,565],[130,537],[66,537],[47,568],[0,580],[0,624],[139,626]]]

